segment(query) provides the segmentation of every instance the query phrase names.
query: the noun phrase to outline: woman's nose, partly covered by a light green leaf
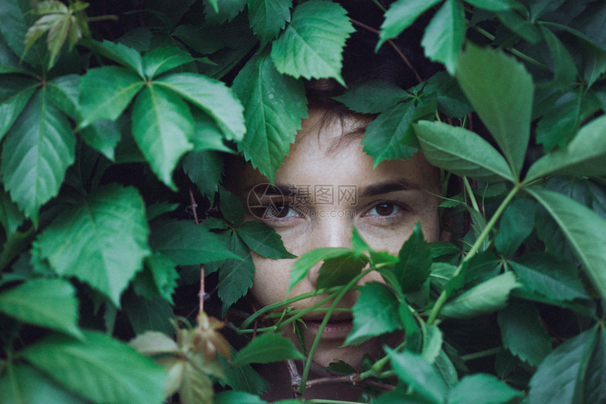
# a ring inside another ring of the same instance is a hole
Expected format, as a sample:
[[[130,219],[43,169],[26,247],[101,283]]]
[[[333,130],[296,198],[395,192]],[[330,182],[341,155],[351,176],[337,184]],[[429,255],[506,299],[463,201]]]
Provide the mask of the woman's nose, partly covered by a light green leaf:
[[[323,247],[352,247],[353,224],[346,217],[321,217],[311,235],[314,239],[313,248]],[[322,262],[311,267],[307,278],[316,287]]]

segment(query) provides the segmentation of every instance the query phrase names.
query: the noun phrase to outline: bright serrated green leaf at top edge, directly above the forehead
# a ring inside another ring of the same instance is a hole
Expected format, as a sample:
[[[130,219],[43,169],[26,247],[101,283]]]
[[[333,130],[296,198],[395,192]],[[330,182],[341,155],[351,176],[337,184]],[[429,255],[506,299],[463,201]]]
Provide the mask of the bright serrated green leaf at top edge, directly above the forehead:
[[[271,59],[279,72],[292,77],[319,79],[341,77],[345,39],[354,32],[342,6],[310,0],[299,4],[286,30],[273,42]]]

